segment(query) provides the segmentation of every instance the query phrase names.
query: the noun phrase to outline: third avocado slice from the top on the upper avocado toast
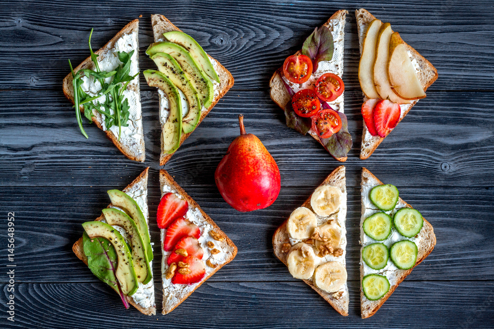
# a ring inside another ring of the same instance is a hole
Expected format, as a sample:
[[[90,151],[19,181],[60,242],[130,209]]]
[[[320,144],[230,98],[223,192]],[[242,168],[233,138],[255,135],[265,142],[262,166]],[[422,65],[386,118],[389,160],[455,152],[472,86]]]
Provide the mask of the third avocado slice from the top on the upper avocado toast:
[[[187,98],[189,112],[182,119],[182,130],[186,134],[192,132],[201,118],[201,100],[196,89],[194,89],[194,86],[187,79],[180,65],[171,55],[167,53],[156,53],[151,56],[151,59],[158,66],[158,70],[164,73]]]

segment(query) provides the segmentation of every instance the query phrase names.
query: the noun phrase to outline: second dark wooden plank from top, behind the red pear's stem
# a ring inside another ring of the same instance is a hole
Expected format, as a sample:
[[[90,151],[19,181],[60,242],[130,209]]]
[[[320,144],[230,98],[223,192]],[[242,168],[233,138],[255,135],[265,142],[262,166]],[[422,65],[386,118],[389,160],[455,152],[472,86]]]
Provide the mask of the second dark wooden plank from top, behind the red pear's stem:
[[[145,83],[145,82],[143,82]],[[70,103],[59,91],[0,91],[0,183],[2,185],[118,185],[145,166],[159,169],[158,94],[144,91],[143,126],[147,161],[128,160],[97,127],[84,122],[79,132]],[[19,100],[24,100],[19,102]],[[419,186],[492,186],[494,170],[494,92],[430,92],[368,160],[360,160],[360,91],[345,93],[345,113],[353,147],[344,163],[347,184],[358,186],[360,167],[382,180]],[[43,113],[40,115],[40,113]],[[282,172],[282,185],[316,186],[335,161],[316,141],[285,124],[268,90],[230,91],[166,165],[179,183],[213,185],[213,173],[238,136],[238,113],[248,133],[259,137]],[[448,113],[445,116],[445,113]],[[85,120],[85,119],[84,119]],[[426,133],[427,132],[427,133]],[[150,180],[150,184],[158,184]]]

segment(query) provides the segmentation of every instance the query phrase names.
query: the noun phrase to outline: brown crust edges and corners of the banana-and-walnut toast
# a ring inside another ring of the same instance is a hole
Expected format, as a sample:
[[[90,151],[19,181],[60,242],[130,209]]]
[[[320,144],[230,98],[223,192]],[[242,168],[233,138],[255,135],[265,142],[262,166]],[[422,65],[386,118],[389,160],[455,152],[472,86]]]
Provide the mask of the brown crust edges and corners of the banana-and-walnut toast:
[[[331,184],[334,186],[338,186],[339,188],[346,190],[345,183],[345,166],[339,166],[334,169],[328,177],[321,183],[321,185]],[[307,200],[301,205],[301,207],[306,207],[308,209],[312,209],[310,205],[312,194],[307,198]],[[273,234],[273,250],[274,254],[278,259],[280,259],[285,265],[287,265],[287,254],[283,253],[283,244],[289,243],[289,236],[287,232],[287,221],[286,219],[275,231]],[[288,266],[288,265],[287,265]],[[329,292],[325,292],[319,288],[317,288],[312,281],[302,280],[306,284],[308,284],[312,289],[314,289],[317,293],[319,293],[339,314],[343,316],[348,315],[348,304],[349,304],[349,295],[345,293],[339,299],[335,299],[331,296]],[[348,292],[348,286],[345,285],[345,291]]]

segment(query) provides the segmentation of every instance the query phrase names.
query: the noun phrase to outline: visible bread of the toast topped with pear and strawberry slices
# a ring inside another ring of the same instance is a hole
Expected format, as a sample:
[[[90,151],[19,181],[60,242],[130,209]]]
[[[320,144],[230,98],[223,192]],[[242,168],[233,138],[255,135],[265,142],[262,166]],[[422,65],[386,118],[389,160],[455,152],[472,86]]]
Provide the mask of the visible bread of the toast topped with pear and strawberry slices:
[[[375,17],[366,9],[358,9],[355,10],[355,16],[357,17],[357,30],[359,34],[359,43],[360,43],[360,52],[362,53],[362,46],[364,44],[364,38],[365,34],[367,32],[367,27],[369,24],[372,22],[372,20],[375,19]],[[422,88],[424,88],[424,91],[427,90],[427,88],[430,87],[430,85],[436,81],[438,78],[437,70],[436,68],[428,61],[426,60],[422,55],[420,55],[415,49],[412,48],[409,44],[405,43],[405,47],[407,50],[410,52],[412,56],[412,60],[415,60],[418,65],[418,72],[417,76],[418,79],[420,80],[420,83],[422,84]],[[367,100],[367,98],[364,95],[364,102]],[[400,119],[398,120],[398,123],[403,120],[405,115],[408,114],[408,112],[412,109],[412,107],[418,102],[418,100],[412,101],[410,104],[402,104],[401,107],[401,115]],[[363,133],[362,133],[362,145],[360,148],[360,158],[362,160],[367,159],[368,157],[371,156],[372,152],[381,144],[381,142],[384,140],[384,138],[381,138],[379,136],[372,136],[369,133],[369,130],[367,129],[365,121],[363,121]],[[397,123],[397,125],[398,125]],[[392,131],[392,130],[391,130]],[[391,132],[389,131],[387,135]]]

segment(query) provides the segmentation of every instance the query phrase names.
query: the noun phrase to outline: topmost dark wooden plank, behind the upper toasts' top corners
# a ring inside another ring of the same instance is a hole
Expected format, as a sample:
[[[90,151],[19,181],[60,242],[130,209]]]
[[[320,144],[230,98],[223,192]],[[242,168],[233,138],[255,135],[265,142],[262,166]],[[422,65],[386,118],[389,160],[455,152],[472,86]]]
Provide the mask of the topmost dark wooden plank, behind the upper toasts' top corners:
[[[329,4],[283,0],[259,1],[255,5],[214,0],[55,2],[56,11],[47,11],[42,1],[2,1],[0,89],[58,89],[69,73],[67,58],[79,63],[88,56],[87,37],[91,28],[95,28],[92,44],[97,49],[139,14],[143,15],[141,70],[154,68],[144,54],[152,42],[149,16],[154,13],[164,14],[196,38],[233,74],[234,88],[263,89],[268,85],[268,73],[298,50],[314,27],[338,9],[363,6],[358,1]],[[494,29],[492,4],[476,1],[472,6],[457,0],[417,3],[382,1],[365,6],[377,18],[389,21],[405,41],[438,69],[439,80],[431,91],[492,90],[494,39],[488,33]],[[359,43],[353,14],[348,15],[348,23],[343,79],[347,86],[356,88]],[[26,62],[30,65],[23,65]]]

